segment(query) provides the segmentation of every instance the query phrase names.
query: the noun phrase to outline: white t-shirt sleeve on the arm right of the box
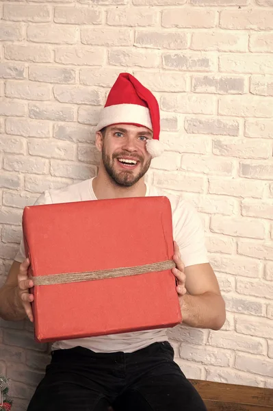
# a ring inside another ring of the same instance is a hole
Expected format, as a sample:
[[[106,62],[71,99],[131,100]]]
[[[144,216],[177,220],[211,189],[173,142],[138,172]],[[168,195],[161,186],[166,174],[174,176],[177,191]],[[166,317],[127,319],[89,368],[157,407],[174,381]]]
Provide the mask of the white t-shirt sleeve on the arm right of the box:
[[[187,201],[179,201],[172,214],[174,240],[179,245],[185,266],[209,262],[205,234],[198,212]]]

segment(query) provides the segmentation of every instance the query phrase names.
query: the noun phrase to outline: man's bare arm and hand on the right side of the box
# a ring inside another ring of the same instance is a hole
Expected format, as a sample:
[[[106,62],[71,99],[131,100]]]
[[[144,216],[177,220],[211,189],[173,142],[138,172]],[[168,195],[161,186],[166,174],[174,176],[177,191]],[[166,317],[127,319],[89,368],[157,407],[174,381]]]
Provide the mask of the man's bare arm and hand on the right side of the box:
[[[183,323],[191,327],[220,329],[226,320],[226,310],[211,265],[195,264],[184,269],[176,243],[174,262],[177,269],[172,272],[177,277]]]

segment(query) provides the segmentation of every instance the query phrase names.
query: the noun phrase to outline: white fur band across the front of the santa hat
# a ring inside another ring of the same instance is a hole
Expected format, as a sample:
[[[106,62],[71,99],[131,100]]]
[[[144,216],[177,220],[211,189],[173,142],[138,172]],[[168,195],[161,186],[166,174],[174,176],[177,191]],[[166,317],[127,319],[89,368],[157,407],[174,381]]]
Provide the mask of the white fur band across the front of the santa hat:
[[[148,108],[138,104],[115,104],[101,110],[96,132],[112,124],[132,123],[141,124],[153,130]]]

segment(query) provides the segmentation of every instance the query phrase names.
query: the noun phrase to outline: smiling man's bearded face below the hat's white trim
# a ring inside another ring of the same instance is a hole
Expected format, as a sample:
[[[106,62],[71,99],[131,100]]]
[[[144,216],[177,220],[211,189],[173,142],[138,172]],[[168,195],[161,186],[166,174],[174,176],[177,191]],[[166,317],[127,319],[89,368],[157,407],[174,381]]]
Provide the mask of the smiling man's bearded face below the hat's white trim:
[[[105,136],[96,135],[105,171],[119,186],[131,187],[144,176],[151,164],[146,141],[153,133],[146,127],[118,124],[106,128]]]

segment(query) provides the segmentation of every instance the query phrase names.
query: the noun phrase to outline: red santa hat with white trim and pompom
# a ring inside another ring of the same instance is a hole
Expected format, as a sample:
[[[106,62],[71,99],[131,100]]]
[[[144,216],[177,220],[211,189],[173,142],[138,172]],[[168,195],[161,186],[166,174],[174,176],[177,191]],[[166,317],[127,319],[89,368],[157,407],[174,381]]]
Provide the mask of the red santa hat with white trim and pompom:
[[[109,91],[96,132],[113,124],[142,125],[151,129],[153,139],[147,140],[146,149],[153,158],[163,153],[163,145],[159,142],[160,116],[157,99],[129,73],[120,73]]]

